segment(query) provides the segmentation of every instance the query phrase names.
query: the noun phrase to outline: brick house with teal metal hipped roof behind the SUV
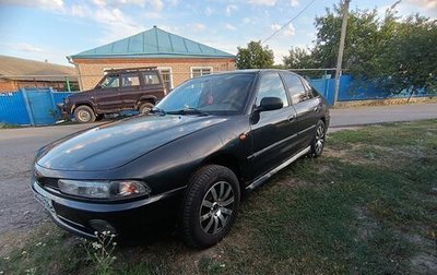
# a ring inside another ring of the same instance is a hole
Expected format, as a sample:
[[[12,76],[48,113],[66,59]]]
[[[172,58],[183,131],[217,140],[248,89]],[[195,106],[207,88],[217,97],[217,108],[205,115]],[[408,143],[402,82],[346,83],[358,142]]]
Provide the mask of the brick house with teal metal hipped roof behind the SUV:
[[[82,91],[93,88],[110,68],[157,67],[168,88],[199,75],[235,70],[235,56],[156,26],[67,58],[78,70]]]

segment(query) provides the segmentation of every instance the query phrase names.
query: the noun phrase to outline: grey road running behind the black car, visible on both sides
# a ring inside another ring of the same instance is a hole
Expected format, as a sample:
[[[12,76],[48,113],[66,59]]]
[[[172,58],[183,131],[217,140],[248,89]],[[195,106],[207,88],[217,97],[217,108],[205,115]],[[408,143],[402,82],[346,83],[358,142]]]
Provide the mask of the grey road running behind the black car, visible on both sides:
[[[331,131],[370,123],[414,121],[437,118],[437,104],[333,109],[331,118]],[[9,236],[29,232],[49,219],[28,187],[35,152],[47,143],[95,125],[97,123],[0,129],[0,251]]]

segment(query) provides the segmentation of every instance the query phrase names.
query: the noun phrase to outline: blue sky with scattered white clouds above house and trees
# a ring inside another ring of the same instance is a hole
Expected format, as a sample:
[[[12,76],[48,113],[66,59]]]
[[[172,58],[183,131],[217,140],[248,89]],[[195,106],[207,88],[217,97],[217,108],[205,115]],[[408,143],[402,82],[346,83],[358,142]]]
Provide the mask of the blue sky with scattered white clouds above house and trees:
[[[264,40],[312,0],[0,0],[0,55],[69,64],[66,56],[111,43],[154,25],[236,55]],[[291,47],[310,47],[314,20],[340,0],[315,0],[264,45],[275,63]],[[385,10],[397,0],[352,0],[351,10]],[[402,0],[399,15],[437,19],[437,0]]]

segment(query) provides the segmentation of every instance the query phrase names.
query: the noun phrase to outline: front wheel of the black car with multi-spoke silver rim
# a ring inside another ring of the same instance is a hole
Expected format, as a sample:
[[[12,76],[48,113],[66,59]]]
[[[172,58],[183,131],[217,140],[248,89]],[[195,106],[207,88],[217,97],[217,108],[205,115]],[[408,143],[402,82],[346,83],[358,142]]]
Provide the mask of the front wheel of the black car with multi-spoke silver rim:
[[[194,248],[209,248],[231,230],[240,199],[235,174],[218,165],[208,165],[191,177],[182,213],[185,242]]]

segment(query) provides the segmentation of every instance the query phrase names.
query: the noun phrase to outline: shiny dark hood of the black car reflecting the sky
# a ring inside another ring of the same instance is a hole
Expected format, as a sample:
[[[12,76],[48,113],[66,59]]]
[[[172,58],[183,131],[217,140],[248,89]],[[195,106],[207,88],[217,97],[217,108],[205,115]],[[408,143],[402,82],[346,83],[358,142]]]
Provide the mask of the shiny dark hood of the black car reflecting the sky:
[[[135,117],[54,142],[39,152],[36,163],[56,170],[109,170],[226,120],[214,116]]]

